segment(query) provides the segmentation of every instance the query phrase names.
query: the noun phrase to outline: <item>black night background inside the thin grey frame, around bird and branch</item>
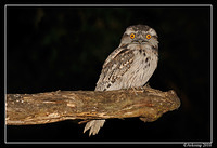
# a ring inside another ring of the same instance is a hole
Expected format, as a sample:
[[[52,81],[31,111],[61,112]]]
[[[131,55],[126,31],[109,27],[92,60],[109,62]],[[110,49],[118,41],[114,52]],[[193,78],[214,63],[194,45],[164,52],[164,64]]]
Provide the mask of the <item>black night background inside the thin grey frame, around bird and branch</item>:
[[[7,8],[7,93],[94,90],[102,65],[130,25],[158,33],[150,85],[175,90],[178,110],[157,121],[106,120],[97,136],[63,121],[7,126],[11,142],[210,140],[210,8]]]

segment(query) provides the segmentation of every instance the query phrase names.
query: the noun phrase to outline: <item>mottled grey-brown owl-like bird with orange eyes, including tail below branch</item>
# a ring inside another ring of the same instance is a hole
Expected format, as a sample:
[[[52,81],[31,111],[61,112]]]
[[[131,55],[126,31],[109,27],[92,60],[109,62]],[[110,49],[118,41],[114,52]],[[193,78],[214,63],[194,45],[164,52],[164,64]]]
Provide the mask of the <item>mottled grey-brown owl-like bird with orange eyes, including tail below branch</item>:
[[[119,46],[113,51],[102,67],[95,91],[112,91],[143,86],[158,62],[156,31],[146,25],[130,26],[124,32]],[[84,130],[95,135],[105,120],[91,120]]]

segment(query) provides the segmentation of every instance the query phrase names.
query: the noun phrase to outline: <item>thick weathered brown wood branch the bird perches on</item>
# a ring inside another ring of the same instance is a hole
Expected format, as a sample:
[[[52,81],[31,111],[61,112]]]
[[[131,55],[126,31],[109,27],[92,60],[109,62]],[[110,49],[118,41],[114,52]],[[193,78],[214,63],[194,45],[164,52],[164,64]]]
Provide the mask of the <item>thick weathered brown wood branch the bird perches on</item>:
[[[144,86],[118,91],[56,91],[38,94],[7,94],[8,125],[43,124],[67,119],[140,117],[155,121],[179,108],[174,91]]]

